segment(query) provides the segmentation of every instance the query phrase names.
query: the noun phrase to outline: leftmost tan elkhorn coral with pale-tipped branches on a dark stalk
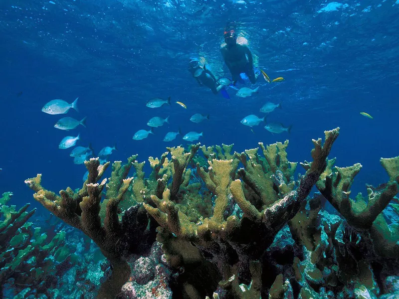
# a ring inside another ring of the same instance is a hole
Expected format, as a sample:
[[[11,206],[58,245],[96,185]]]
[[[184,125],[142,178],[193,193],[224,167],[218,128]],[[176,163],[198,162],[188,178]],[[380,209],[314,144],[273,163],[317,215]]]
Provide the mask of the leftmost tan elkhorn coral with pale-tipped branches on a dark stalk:
[[[68,187],[66,190],[61,190],[58,196],[54,192],[44,189],[41,186],[40,174],[35,178],[25,180],[25,183],[35,191],[33,197],[37,201],[55,216],[83,231],[109,259],[112,265],[112,276],[101,286],[98,297],[113,298],[115,294],[119,293],[130,275],[130,267],[121,255],[125,248],[118,246],[121,237],[126,234],[125,229],[129,226],[121,225],[117,210],[132,178],[127,178],[128,169],[126,167],[124,169],[114,167],[107,186],[107,201],[104,203],[106,205],[105,217],[102,224],[99,212],[106,179],[103,179],[101,183],[97,183],[97,181],[100,180],[109,163],[100,165],[98,158],[92,158],[86,161],[85,165],[89,171],[88,179],[77,193]],[[146,220],[146,217],[141,220]],[[137,243],[143,242],[140,237],[145,234],[146,227],[147,225],[144,226],[144,230],[137,232]]]

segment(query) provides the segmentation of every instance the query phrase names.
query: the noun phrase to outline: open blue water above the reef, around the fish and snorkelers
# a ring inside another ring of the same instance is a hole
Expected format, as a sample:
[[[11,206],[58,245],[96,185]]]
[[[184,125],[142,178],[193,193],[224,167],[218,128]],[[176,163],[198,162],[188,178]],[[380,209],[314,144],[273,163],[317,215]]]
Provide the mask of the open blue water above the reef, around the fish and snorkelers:
[[[143,161],[167,146],[186,145],[181,138],[163,142],[180,127],[183,133],[203,132],[201,144],[234,143],[236,151],[289,139],[289,160],[299,162],[311,160],[313,138],[340,127],[331,157],[338,166],[363,165],[353,192],[387,181],[379,159],[399,154],[399,3],[394,0],[341,1],[335,11],[320,11],[324,1],[54,3],[0,3],[0,192],[12,191],[14,204],[39,206],[23,182],[36,173],[56,192],[81,187],[84,165],[73,164],[70,149],[58,149],[63,137],[78,133],[77,145],[92,143],[97,152],[117,143],[112,161],[135,153]],[[187,67],[190,57],[204,56],[218,75],[228,75],[219,47],[226,22],[234,20],[259,66],[272,79],[285,80],[268,84],[259,78],[258,95],[238,98],[229,89],[226,100],[198,86]],[[153,97],[168,96],[187,110],[177,104],[145,106]],[[79,113],[40,111],[52,99],[76,97]],[[262,125],[252,133],[240,124],[248,114],[263,115],[259,108],[267,101],[282,102],[283,109],[267,120],[292,124],[290,135],[272,135]],[[195,113],[210,114],[210,120],[194,124],[189,119]],[[64,116],[87,116],[87,129],[53,128]],[[153,116],[170,116],[170,125],[146,140],[132,140],[139,129],[149,129]]]

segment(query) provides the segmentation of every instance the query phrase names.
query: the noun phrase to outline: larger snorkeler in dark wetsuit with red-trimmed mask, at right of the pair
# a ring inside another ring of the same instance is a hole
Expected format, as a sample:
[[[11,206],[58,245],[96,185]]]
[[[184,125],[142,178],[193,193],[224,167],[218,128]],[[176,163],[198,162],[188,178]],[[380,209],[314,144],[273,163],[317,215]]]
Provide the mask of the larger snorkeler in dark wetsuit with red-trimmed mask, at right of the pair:
[[[256,82],[253,70],[252,53],[246,45],[237,43],[237,35],[234,29],[224,31],[224,41],[220,48],[224,62],[230,70],[232,81],[240,79],[240,73],[245,73],[252,84]]]

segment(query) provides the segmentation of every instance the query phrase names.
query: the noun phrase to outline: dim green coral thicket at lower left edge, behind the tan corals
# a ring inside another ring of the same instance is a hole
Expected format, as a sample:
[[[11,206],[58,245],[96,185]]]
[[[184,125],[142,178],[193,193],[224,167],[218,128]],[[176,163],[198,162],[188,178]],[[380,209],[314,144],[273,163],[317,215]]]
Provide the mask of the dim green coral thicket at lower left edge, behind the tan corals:
[[[16,211],[7,205],[11,196],[7,192],[0,198],[0,297],[60,298],[54,292],[76,263],[74,248],[66,246],[64,231],[50,237],[27,222],[35,209],[27,211],[26,204]]]

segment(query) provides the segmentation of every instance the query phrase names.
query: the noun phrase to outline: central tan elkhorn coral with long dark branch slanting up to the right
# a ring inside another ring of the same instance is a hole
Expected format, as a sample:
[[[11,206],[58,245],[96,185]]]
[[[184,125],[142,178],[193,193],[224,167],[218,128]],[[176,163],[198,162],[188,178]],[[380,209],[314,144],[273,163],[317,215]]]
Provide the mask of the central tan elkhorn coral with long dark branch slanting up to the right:
[[[291,179],[295,167],[294,163],[286,159],[286,143],[285,147],[272,145],[267,149],[263,148],[269,161],[265,159],[262,164],[257,156],[257,149],[251,149],[246,150],[245,153],[236,153],[234,159],[211,159],[208,161],[208,169],[203,169],[198,165],[197,171],[200,177],[215,196],[213,214],[200,223],[189,221],[188,217],[179,211],[169,189],[165,189],[162,198],[152,195],[152,201],[157,208],[149,204],[144,206],[149,214],[171,233],[171,238],[176,236],[177,240],[181,240],[180,242],[191,242],[200,250],[201,255],[208,256],[208,259],[216,265],[222,278],[219,286],[222,286],[227,296],[237,296],[234,286],[248,279],[250,281],[251,261],[260,260],[265,249],[272,243],[275,234],[298,212],[301,202],[324,171],[327,155],[337,136],[338,129],[326,132],[324,146],[320,139],[314,141],[315,149],[312,150],[314,161],[312,165],[309,164],[308,171],[295,190],[292,190],[295,183],[286,181],[287,177]],[[210,151],[211,148],[206,149],[206,155],[209,157]],[[260,209],[252,204],[253,198],[246,198],[243,189],[245,185],[243,186],[238,179],[233,180],[238,165],[236,160],[244,165],[244,168],[238,171],[243,181],[263,202]],[[278,169],[280,166],[282,170]],[[272,169],[283,173],[282,181],[278,184],[267,177],[273,174]],[[262,177],[263,180],[259,181],[258,177]],[[270,187],[265,189],[264,182],[267,180]],[[229,196],[230,192],[232,198]],[[235,200],[243,211],[242,219],[225,213],[231,199]],[[168,253],[167,248],[165,250]],[[176,252],[169,253],[170,258],[175,259]],[[184,262],[184,255],[183,252],[180,253],[181,258],[174,260],[173,264],[178,266],[179,263]],[[253,280],[254,277],[252,277]]]

